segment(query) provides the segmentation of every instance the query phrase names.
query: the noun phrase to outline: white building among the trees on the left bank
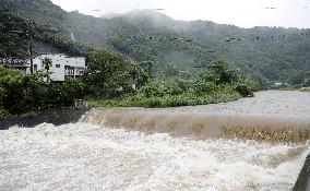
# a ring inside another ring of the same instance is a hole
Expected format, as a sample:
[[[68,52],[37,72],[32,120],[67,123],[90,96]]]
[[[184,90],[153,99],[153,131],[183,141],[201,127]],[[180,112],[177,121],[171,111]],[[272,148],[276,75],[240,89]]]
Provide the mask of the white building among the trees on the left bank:
[[[83,57],[68,57],[63,53],[53,55],[40,55],[34,58],[34,72],[44,70],[43,60],[45,58],[51,59],[50,80],[51,81],[64,81],[65,77],[79,77],[86,69],[85,58]],[[29,65],[29,61],[28,61]],[[27,69],[29,73],[29,68]]]

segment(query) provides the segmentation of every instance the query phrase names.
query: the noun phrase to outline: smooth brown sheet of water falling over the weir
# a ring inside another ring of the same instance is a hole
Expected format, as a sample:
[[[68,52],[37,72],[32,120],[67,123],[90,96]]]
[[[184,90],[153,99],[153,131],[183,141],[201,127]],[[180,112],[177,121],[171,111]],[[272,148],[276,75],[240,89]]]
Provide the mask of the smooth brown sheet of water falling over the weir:
[[[298,142],[310,135],[310,118],[276,115],[219,115],[142,108],[92,109],[81,119],[93,124],[169,133],[175,136],[240,138]]]

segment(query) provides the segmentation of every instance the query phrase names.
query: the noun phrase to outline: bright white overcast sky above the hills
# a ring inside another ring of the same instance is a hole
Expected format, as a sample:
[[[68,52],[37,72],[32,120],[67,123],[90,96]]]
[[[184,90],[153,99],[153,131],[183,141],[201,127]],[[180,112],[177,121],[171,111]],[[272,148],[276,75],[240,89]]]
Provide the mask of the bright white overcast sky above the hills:
[[[135,9],[165,9],[177,20],[207,20],[241,27],[310,28],[310,0],[51,0],[67,11],[100,16]],[[273,9],[271,9],[273,8]],[[99,10],[99,11],[98,11]]]

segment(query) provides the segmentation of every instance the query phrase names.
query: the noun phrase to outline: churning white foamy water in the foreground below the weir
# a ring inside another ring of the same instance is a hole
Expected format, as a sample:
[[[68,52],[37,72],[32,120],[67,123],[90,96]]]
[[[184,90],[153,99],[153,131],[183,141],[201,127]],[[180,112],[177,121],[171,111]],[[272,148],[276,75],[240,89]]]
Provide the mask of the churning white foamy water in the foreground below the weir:
[[[0,190],[290,190],[310,144],[74,123],[0,131]]]

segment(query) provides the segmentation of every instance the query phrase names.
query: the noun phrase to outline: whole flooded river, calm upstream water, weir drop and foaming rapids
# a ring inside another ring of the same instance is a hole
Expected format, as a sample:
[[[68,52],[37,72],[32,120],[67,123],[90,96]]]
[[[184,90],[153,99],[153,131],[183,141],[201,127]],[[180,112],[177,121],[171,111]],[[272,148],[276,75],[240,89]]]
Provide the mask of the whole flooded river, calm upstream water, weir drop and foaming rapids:
[[[310,152],[309,117],[309,93],[269,91],[226,104],[97,108],[78,123],[12,127],[0,131],[0,190],[287,191]]]

